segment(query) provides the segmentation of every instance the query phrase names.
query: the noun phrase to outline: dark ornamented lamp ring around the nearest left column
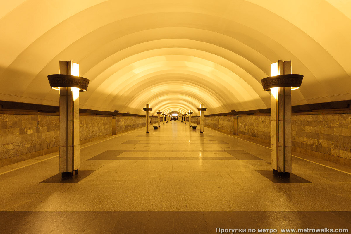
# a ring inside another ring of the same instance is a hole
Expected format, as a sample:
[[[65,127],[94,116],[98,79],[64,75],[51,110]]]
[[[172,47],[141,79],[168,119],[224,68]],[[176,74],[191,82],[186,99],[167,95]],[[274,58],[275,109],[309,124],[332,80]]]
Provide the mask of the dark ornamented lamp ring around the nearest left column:
[[[47,79],[51,88],[57,90],[60,90],[59,87],[73,87],[79,88],[79,91],[82,92],[86,91],[89,85],[88,79],[75,75],[54,74],[48,75]]]

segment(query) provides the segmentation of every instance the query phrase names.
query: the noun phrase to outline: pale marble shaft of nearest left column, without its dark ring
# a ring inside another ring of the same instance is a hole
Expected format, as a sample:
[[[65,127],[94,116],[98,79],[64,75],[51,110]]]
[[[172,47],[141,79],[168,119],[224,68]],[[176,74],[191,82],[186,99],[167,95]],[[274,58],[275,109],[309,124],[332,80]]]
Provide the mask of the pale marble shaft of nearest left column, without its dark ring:
[[[60,74],[73,74],[72,61],[60,61]],[[79,88],[60,89],[60,173],[72,176],[79,169]]]

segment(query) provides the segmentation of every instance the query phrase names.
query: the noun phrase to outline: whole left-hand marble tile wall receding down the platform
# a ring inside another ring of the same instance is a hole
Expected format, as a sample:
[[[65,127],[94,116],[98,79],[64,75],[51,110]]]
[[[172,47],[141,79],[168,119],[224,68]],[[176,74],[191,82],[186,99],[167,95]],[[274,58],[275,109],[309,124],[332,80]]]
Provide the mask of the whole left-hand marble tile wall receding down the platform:
[[[145,117],[116,118],[117,134],[145,127]],[[0,114],[0,167],[59,151],[59,119],[57,114]],[[80,144],[111,135],[112,116],[80,116]]]

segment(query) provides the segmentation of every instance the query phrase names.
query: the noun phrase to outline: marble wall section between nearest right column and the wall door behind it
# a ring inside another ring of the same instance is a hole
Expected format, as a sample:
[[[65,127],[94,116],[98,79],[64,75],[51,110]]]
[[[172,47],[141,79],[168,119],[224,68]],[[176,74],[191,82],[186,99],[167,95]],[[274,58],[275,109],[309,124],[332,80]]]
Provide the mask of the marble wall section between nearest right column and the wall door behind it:
[[[238,135],[270,144],[271,115],[239,115]]]

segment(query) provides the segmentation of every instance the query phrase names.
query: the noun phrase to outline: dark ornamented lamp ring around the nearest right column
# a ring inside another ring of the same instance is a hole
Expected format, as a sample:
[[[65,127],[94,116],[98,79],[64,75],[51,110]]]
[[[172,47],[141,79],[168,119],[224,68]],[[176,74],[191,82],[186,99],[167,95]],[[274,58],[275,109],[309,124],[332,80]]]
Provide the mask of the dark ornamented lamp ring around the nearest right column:
[[[269,76],[261,80],[263,89],[271,91],[271,88],[277,87],[291,87],[291,90],[298,89],[301,86],[303,75],[286,74]]]

